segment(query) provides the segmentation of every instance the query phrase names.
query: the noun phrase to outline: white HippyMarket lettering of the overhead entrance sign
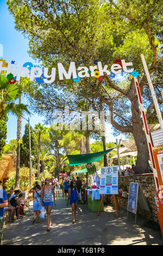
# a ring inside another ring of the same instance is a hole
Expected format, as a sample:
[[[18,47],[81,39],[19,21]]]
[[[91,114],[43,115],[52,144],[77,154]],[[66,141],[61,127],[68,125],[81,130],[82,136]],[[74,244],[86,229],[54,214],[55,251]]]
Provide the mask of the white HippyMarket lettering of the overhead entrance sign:
[[[111,72],[114,74],[120,74],[123,71],[127,73],[131,73],[134,71],[134,68],[128,69],[127,67],[133,66],[133,63],[128,62],[126,63],[124,59],[120,60],[121,64],[115,63],[111,66]],[[27,62],[24,63],[23,67],[16,67],[17,63],[15,61],[8,62],[8,66],[4,67],[2,66],[3,62],[0,62],[0,74],[1,71],[7,71],[7,74],[10,74],[12,72],[13,76],[16,78],[16,81],[20,81],[21,77],[27,77],[29,75],[29,80],[34,81],[34,78],[42,77],[42,81],[44,83],[53,83],[55,81],[55,75],[56,75],[56,68],[52,68],[51,75],[48,75],[48,68],[45,68],[43,71],[39,67],[34,67],[32,63]],[[14,65],[14,66],[12,66]],[[12,68],[12,70],[11,70]],[[110,75],[110,71],[108,70],[108,65],[102,66],[101,62],[97,62],[97,65],[95,66],[89,66],[89,69],[86,66],[80,66],[76,69],[75,62],[71,62],[68,72],[65,70],[62,63],[58,63],[58,76],[59,80],[65,79],[69,80],[72,78],[77,79],[78,78],[84,78],[84,77],[96,77],[95,70],[99,71],[100,76],[104,76],[104,73],[106,75]],[[77,71],[78,74],[77,74]],[[91,71],[91,72],[89,72]],[[17,74],[16,74],[17,73]],[[49,79],[50,78],[50,79]]]

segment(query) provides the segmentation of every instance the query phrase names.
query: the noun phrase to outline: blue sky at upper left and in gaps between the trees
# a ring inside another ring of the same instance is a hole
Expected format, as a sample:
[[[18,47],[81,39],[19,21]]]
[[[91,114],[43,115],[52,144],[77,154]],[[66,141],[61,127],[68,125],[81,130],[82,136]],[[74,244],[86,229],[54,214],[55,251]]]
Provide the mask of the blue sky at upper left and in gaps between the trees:
[[[22,66],[25,62],[32,62],[35,64],[35,61],[29,57],[28,50],[28,39],[24,38],[21,32],[16,31],[15,22],[12,15],[7,9],[7,4],[4,0],[0,0],[0,44],[3,45],[3,59],[6,62],[15,60],[18,66]],[[1,51],[0,51],[1,52]],[[22,103],[27,103],[26,99],[23,99]],[[28,119],[28,115],[25,116]],[[34,127],[37,123],[43,124],[43,117],[40,117],[37,114],[33,114],[30,117],[30,124]],[[27,121],[23,119],[22,121],[22,135],[24,133],[24,126]],[[7,123],[8,126],[8,137],[7,142],[10,139],[16,139],[17,132],[17,119],[12,115],[9,115],[9,120]],[[115,142],[116,138],[112,135],[111,125],[106,125],[106,141]],[[125,139],[124,136],[118,136],[117,138]]]

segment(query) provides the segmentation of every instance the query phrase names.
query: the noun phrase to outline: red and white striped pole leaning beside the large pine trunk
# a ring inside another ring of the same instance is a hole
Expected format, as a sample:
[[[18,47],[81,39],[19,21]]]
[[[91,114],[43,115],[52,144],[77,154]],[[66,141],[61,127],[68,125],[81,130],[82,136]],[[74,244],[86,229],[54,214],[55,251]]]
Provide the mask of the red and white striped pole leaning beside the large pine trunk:
[[[138,80],[137,80],[136,77],[134,77],[134,82],[135,82],[137,97],[139,99],[139,105],[140,105],[141,115],[142,115],[142,119],[143,119],[143,124],[145,126],[145,134],[146,134],[149,154],[151,156],[151,161],[152,161],[152,168],[153,168],[153,176],[154,176],[154,181],[155,181],[155,187],[156,187],[156,191],[160,191],[158,173],[156,171],[156,165],[155,165],[154,155],[153,155],[153,150],[152,150],[151,137],[149,135],[149,130],[148,130],[148,125],[147,125],[145,109],[143,107],[142,97],[141,97],[140,88],[139,88],[139,83],[138,83]]]

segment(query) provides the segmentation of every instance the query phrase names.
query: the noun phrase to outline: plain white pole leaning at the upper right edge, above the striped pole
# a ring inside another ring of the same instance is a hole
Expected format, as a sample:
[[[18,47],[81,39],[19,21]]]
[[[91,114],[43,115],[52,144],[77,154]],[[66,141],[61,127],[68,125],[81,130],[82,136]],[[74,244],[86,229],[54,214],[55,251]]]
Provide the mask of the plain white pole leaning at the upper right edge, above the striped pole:
[[[156,114],[158,115],[159,124],[160,124],[161,129],[163,129],[162,116],[161,116],[158,100],[157,100],[155,92],[154,92],[154,88],[153,88],[153,84],[152,84],[152,81],[151,81],[151,77],[149,75],[149,71],[148,71],[148,68],[147,68],[146,60],[145,60],[145,57],[143,56],[143,54],[140,54],[140,56],[141,56],[142,64],[143,64],[143,67],[144,67],[144,70],[145,70],[145,73],[146,73],[147,81],[149,83],[149,88],[151,90],[151,94],[152,94],[152,98],[153,98],[153,102],[154,102],[154,106],[155,106],[155,111],[156,111]]]

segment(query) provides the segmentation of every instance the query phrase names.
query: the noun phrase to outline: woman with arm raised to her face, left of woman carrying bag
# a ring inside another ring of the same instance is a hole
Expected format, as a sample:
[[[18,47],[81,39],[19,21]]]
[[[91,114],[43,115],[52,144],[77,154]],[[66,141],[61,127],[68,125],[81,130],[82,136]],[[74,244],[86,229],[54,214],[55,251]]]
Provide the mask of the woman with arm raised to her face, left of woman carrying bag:
[[[32,223],[39,223],[39,215],[41,211],[41,186],[39,184],[36,184],[31,190],[29,190],[29,193],[33,193],[33,211],[34,211],[34,218]]]

